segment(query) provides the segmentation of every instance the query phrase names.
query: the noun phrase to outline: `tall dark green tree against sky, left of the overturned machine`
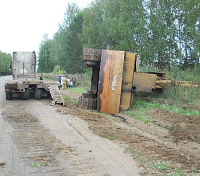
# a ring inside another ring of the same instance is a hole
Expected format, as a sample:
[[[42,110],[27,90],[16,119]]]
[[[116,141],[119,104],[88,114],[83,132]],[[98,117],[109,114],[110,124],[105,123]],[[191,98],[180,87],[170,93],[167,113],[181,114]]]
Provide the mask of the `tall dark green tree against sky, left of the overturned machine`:
[[[50,60],[68,73],[83,71],[83,47],[80,40],[82,21],[82,12],[78,6],[68,4],[63,23],[52,40]]]

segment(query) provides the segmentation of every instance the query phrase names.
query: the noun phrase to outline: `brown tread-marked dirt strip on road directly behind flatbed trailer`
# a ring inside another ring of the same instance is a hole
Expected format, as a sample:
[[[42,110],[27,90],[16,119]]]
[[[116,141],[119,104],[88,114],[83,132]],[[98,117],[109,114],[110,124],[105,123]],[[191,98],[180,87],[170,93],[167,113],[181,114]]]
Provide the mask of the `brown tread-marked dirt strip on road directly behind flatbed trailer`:
[[[28,112],[26,103],[12,101],[5,106],[3,116],[15,129],[12,139],[24,160],[27,174],[75,175],[62,167],[58,159],[62,157],[62,162],[65,162],[66,166],[70,165],[65,154],[73,152],[74,149],[49,135],[38,119]]]

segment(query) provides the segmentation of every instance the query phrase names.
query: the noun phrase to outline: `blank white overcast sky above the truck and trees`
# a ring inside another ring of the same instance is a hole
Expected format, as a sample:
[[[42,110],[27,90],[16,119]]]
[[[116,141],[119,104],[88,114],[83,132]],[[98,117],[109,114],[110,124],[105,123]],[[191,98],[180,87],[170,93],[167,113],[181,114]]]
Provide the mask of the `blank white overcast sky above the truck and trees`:
[[[58,31],[68,3],[87,7],[92,0],[0,0],[0,50],[36,51],[46,33]]]

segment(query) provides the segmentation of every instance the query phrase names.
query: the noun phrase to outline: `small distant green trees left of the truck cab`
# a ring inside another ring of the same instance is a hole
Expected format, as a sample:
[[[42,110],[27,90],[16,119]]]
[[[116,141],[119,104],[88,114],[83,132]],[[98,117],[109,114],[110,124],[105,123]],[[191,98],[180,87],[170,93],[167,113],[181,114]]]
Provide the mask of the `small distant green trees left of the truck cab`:
[[[0,75],[10,74],[10,65],[12,63],[11,54],[0,51]]]

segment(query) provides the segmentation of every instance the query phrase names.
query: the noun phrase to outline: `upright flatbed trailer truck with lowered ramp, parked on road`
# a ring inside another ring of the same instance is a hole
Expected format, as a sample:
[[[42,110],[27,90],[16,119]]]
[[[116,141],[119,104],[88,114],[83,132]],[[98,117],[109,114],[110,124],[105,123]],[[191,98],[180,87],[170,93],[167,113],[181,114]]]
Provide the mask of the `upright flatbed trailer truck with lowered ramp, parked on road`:
[[[42,77],[37,79],[35,51],[13,52],[11,67],[13,80],[5,83],[7,100],[52,97],[55,103],[64,104],[57,84],[43,81]]]

